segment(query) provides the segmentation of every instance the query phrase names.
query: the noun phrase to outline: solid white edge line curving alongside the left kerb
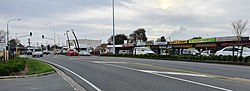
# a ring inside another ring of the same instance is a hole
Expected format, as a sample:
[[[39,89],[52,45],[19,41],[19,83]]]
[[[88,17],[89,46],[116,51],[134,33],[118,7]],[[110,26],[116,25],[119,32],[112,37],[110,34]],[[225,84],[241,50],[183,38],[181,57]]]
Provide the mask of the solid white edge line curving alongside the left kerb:
[[[44,61],[44,62],[47,62],[47,63],[50,63],[50,64],[55,65],[55,66],[57,66],[57,67],[63,68],[64,70],[66,70],[66,71],[68,71],[68,72],[74,74],[75,76],[77,76],[78,78],[80,78],[81,80],[83,80],[84,82],[86,82],[87,84],[89,84],[89,85],[90,85],[91,87],[93,87],[96,91],[102,91],[102,90],[99,89],[97,86],[95,86],[93,83],[89,82],[88,80],[84,79],[83,77],[81,77],[80,75],[76,74],[75,72],[69,70],[69,69],[66,68],[66,67],[63,67],[63,66],[61,66],[61,65],[59,65],[59,64],[52,63],[52,62],[49,62],[49,61],[46,61],[46,60],[43,60],[43,59],[39,59],[39,60]]]

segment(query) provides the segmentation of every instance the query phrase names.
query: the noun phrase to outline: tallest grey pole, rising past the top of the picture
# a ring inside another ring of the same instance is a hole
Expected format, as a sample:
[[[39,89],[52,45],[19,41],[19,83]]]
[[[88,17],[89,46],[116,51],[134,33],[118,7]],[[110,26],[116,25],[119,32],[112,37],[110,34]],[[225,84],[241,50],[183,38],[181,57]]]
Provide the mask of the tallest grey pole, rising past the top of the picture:
[[[113,54],[115,54],[115,1],[112,0],[112,10],[113,10]]]

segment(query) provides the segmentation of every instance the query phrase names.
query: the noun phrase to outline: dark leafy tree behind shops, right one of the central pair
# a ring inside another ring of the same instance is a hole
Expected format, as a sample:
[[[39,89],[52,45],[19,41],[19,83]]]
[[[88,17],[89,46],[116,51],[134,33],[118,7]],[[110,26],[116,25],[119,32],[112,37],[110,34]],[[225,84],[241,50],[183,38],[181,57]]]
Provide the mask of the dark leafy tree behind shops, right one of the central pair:
[[[138,43],[138,42],[145,42],[147,41],[146,31],[144,28],[139,28],[135,30],[132,34],[129,35],[130,42]]]

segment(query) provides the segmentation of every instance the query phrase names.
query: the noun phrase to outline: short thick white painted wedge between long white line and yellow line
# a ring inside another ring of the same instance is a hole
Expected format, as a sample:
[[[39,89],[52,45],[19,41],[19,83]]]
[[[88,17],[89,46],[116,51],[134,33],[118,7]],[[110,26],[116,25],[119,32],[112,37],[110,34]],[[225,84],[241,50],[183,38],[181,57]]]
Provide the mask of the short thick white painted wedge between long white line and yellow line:
[[[142,72],[154,73],[154,74],[170,74],[170,75],[184,75],[184,76],[197,76],[197,77],[213,77],[201,74],[181,73],[181,72],[165,72],[165,71],[151,71],[151,70],[139,70]]]

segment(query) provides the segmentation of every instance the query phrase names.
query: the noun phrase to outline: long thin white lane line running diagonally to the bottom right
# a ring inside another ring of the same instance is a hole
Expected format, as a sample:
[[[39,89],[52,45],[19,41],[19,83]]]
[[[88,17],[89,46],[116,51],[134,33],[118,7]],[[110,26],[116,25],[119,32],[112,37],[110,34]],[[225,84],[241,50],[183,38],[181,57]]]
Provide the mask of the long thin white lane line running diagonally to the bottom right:
[[[138,70],[138,69],[124,67],[124,66],[118,66],[118,65],[113,65],[113,64],[104,64],[104,65],[109,65],[109,66],[113,66],[113,67],[118,67],[118,68],[143,72],[143,71]],[[148,72],[143,72],[143,73],[148,73]],[[201,86],[205,86],[205,87],[210,87],[210,88],[214,88],[214,89],[218,89],[218,90],[233,91],[233,90],[230,90],[230,89],[217,87],[217,86],[213,86],[213,85],[209,85],[209,84],[204,84],[204,83],[200,83],[200,82],[190,81],[190,80],[186,80],[186,79],[182,79],[182,78],[177,78],[177,77],[172,77],[172,76],[167,76],[167,75],[161,75],[161,74],[155,74],[155,73],[149,73],[149,74],[153,74],[153,75],[157,75],[157,76],[161,76],[161,77],[166,77],[166,78],[171,78],[171,79],[175,79],[175,80],[179,80],[179,81],[183,81],[183,82],[188,82],[188,83],[192,83],[192,84],[196,84],[196,85],[201,85]]]

